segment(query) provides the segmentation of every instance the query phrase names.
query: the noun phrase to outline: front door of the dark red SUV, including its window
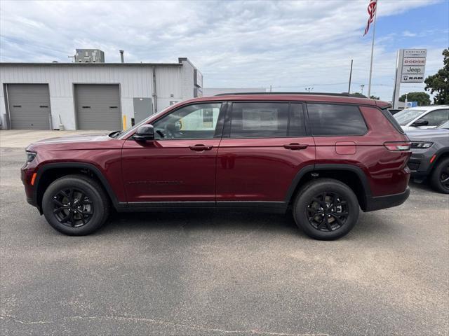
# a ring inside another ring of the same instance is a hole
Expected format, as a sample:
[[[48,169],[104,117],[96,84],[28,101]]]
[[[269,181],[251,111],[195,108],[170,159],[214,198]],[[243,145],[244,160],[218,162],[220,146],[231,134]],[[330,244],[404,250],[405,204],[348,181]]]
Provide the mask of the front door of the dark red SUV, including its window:
[[[123,183],[130,206],[215,207],[221,109],[220,102],[182,106],[152,123],[154,141],[125,141]]]

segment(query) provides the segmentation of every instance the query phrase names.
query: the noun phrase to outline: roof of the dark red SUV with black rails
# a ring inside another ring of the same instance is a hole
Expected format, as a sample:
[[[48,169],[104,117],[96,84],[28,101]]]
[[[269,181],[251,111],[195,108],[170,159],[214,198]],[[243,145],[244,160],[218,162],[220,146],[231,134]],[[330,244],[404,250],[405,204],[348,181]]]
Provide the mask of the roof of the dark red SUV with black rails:
[[[372,105],[378,106],[381,109],[390,107],[389,102],[383,102],[381,100],[368,99],[363,97],[354,97],[349,94],[332,94],[332,93],[320,93],[320,94],[308,94],[308,93],[296,93],[296,92],[261,92],[261,93],[239,93],[239,94],[219,94],[217,96],[199,97],[189,99],[183,103],[191,102],[213,102],[213,101],[276,101],[276,102],[329,102],[329,103],[345,103],[345,104],[357,104],[357,105]]]

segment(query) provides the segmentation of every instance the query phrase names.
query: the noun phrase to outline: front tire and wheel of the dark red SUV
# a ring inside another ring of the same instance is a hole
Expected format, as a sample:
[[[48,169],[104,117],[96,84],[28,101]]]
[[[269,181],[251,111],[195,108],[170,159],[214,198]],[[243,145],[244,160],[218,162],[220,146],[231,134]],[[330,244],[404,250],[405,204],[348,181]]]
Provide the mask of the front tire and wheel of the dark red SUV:
[[[88,176],[67,175],[48,186],[43,193],[42,209],[55,230],[65,235],[83,236],[105,223],[109,200],[97,181]]]

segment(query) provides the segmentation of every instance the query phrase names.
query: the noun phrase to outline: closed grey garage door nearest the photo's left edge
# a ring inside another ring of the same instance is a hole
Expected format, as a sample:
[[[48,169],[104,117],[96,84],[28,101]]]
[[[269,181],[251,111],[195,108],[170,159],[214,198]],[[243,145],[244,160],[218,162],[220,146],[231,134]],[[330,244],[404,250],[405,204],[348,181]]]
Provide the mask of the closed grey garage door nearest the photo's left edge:
[[[50,130],[50,94],[47,84],[8,84],[12,130]]]

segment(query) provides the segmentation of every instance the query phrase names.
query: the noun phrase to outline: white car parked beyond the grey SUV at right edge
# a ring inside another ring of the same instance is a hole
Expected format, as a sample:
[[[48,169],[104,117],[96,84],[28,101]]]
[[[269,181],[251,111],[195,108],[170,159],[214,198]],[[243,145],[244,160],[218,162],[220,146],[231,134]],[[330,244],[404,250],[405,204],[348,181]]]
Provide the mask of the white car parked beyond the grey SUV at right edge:
[[[404,131],[435,128],[449,120],[449,105],[419,106],[394,115]]]

